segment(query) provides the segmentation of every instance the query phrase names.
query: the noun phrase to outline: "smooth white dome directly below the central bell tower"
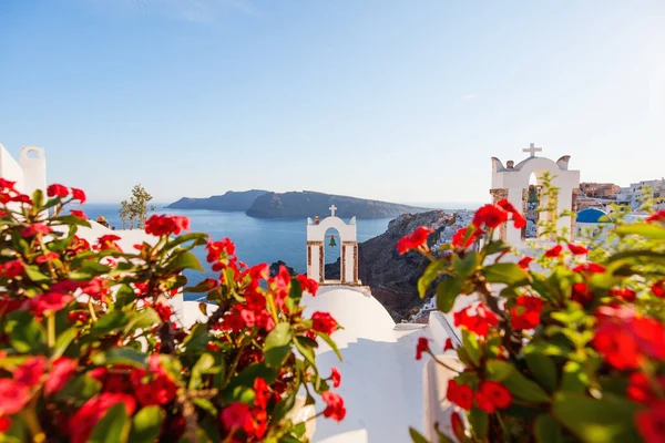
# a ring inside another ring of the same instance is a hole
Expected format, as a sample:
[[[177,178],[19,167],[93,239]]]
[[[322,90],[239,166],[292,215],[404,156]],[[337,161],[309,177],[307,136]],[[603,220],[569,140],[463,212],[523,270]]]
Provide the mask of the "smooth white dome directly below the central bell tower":
[[[334,333],[337,346],[346,348],[358,339],[395,342],[395,321],[369,291],[342,286],[323,287],[316,297],[305,295],[305,317],[316,311],[328,312],[344,328]],[[329,348],[321,343],[319,352]]]

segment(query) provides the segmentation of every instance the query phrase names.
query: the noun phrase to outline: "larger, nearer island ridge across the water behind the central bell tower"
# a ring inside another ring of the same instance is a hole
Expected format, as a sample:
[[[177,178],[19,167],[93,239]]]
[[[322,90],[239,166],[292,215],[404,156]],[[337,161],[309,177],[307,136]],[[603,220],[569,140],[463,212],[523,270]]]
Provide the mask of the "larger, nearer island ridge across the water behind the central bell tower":
[[[256,198],[247,215],[260,218],[305,218],[330,214],[330,205],[337,207],[336,215],[342,218],[385,218],[405,213],[428,209],[395,203],[367,200],[315,192],[266,193]]]

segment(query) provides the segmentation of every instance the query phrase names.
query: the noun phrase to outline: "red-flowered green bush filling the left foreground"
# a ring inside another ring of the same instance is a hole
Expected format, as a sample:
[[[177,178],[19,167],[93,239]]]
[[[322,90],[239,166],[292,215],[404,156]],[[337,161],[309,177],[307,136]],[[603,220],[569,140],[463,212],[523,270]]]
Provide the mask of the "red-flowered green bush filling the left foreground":
[[[76,236],[83,213],[63,210],[72,199],[85,194],[30,197],[0,179],[0,441],[306,441],[289,419],[298,394],[344,419],[339,372],[315,360],[317,338],[337,351],[338,324],[300,306],[315,281],[247,267],[228,239],[177,236],[184,217],[152,216],[154,241],[133,250],[115,235],[91,245]],[[186,286],[204,245],[219,278]],[[216,310],[202,303],[214,313],[183,328],[167,303],[182,290]]]

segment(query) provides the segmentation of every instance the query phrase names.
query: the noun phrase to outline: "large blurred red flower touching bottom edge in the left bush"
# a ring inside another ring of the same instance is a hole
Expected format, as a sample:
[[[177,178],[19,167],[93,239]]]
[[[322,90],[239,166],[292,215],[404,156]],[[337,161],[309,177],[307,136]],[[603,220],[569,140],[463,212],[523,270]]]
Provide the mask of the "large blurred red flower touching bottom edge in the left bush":
[[[134,398],[127,394],[103,392],[88,400],[70,420],[71,442],[86,442],[94,425],[117,403],[125,405],[127,415],[132,415],[136,409]]]

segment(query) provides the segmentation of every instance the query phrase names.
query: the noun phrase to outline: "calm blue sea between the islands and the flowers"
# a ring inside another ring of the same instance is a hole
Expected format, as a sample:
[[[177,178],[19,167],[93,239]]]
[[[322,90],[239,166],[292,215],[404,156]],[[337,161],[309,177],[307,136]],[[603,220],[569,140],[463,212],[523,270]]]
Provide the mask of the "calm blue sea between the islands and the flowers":
[[[264,219],[248,217],[245,213],[165,209],[160,205],[155,206],[157,206],[155,214],[173,214],[188,217],[192,223],[192,231],[206,233],[216,240],[223,237],[231,238],[236,244],[236,255],[238,258],[249,266],[283,260],[296,269],[296,271],[306,272],[307,220],[305,219]],[[122,223],[117,214],[119,207],[119,205],[113,204],[85,204],[82,209],[89,218],[96,219],[96,217],[103,215],[111,226],[121,229]],[[383,234],[391,218],[358,219],[358,241],[365,241]],[[336,247],[329,247],[326,243],[326,262],[331,262],[339,258],[339,244],[338,239]],[[194,253],[202,264],[205,265],[205,250],[200,248]],[[196,281],[198,278],[203,278],[200,275],[193,277],[195,277]],[[212,277],[212,274],[206,275],[206,277]]]

